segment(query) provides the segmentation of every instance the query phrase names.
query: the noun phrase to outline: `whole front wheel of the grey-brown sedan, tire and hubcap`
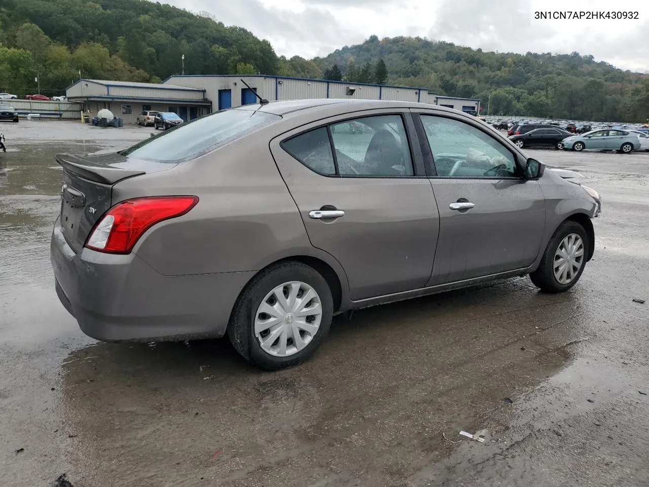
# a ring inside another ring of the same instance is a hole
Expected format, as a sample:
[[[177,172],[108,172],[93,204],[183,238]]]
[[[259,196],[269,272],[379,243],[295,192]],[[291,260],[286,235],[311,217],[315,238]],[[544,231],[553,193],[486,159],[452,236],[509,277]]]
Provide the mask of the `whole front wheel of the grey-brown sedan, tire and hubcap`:
[[[550,238],[541,264],[530,274],[530,279],[544,292],[569,290],[582,276],[588,245],[588,235],[582,225],[564,221]]]

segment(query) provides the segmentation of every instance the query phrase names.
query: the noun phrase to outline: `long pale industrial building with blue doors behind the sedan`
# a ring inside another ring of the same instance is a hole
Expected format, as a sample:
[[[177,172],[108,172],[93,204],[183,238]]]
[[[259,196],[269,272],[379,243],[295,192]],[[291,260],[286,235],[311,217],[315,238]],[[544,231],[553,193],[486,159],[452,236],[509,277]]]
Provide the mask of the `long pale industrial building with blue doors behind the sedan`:
[[[143,110],[175,112],[189,120],[216,110],[257,103],[254,92],[269,101],[312,98],[413,101],[450,106],[472,114],[477,114],[480,108],[480,100],[436,95],[427,88],[271,75],[175,75],[162,84],[81,79],[67,88],[66,95],[69,101],[84,103],[91,114],[108,108],[125,123],[135,123]]]

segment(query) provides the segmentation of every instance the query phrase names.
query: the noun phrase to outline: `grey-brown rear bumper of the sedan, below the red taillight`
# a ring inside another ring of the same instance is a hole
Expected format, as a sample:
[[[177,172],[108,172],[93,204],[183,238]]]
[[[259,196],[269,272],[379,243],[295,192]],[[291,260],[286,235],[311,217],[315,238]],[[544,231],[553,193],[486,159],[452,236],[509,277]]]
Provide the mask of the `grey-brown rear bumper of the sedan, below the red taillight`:
[[[56,293],[81,330],[104,342],[219,337],[250,272],[163,276],[134,254],[75,253],[58,219],[50,256]]]

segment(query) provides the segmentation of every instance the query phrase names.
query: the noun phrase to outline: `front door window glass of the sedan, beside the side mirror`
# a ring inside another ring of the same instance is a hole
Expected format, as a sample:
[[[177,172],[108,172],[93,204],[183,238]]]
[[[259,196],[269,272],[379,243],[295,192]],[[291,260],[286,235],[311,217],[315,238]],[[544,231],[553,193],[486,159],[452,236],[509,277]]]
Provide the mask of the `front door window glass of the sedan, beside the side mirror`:
[[[513,153],[463,121],[421,115],[438,177],[517,177]]]

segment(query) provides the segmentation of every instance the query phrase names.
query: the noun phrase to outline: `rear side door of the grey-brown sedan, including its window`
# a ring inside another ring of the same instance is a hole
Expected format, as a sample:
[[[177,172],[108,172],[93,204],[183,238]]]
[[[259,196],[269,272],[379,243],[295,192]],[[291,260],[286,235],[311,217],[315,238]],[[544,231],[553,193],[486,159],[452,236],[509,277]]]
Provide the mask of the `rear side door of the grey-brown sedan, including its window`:
[[[351,299],[430,279],[439,213],[412,127],[407,111],[370,110],[271,141],[312,245],[343,266]]]

